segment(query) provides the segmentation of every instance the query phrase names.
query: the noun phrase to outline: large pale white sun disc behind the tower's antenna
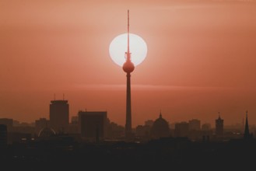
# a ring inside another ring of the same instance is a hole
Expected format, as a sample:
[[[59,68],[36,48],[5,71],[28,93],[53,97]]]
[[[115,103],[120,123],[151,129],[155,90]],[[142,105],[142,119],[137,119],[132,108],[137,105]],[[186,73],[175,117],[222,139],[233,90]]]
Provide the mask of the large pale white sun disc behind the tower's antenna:
[[[127,38],[128,34],[123,33],[114,37],[110,43],[109,53],[110,58],[114,61],[115,64],[123,66],[125,62],[125,52],[127,51]],[[131,61],[136,66],[142,63],[145,60],[146,54],[148,51],[146,41],[139,37],[136,34],[129,33],[130,37],[130,52],[131,52]]]

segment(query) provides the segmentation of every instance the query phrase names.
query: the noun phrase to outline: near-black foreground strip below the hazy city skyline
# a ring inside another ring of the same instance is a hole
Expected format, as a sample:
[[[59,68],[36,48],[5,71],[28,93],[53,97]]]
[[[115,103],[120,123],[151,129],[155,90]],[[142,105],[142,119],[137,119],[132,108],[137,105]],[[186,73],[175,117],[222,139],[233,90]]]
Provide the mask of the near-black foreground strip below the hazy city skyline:
[[[0,170],[230,170],[253,168],[256,164],[254,139],[193,142],[187,138],[162,138],[146,143],[94,144],[34,141],[9,145],[0,152]]]

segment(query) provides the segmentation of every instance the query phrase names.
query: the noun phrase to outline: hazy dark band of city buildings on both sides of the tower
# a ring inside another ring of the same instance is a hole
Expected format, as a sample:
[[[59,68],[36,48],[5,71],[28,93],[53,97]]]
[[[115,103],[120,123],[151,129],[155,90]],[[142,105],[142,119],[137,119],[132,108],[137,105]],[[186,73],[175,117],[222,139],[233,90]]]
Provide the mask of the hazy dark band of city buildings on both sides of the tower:
[[[107,139],[123,139],[125,126],[114,123],[108,117],[107,111],[79,110],[76,116],[69,121],[68,99],[54,99],[49,103],[49,117],[40,117],[33,123],[19,123],[12,118],[1,118],[0,124],[5,124],[8,133],[22,133],[25,138],[37,138],[46,134],[76,134],[87,141],[105,141]],[[186,137],[194,141],[202,141],[205,138],[215,140],[232,138],[249,138],[256,131],[255,125],[248,123],[248,111],[244,113],[245,120],[242,124],[226,125],[221,113],[216,114],[215,124],[203,123],[200,118],[191,118],[180,122],[170,123],[160,111],[155,120],[145,120],[144,124],[132,127],[130,138],[136,141],[149,141],[163,137]],[[251,132],[249,131],[251,127]],[[20,134],[20,136],[23,136]],[[139,138],[139,139],[138,139]],[[19,137],[21,141],[22,138]],[[12,140],[9,140],[12,141]]]

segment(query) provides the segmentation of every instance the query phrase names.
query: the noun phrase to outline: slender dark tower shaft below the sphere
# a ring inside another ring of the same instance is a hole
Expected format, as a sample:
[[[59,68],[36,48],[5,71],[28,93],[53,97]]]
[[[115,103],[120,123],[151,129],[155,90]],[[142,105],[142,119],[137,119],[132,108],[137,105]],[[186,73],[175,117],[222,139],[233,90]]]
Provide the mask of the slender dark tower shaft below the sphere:
[[[126,123],[125,137],[130,138],[132,135],[132,105],[131,105],[131,73],[128,72],[126,82]]]

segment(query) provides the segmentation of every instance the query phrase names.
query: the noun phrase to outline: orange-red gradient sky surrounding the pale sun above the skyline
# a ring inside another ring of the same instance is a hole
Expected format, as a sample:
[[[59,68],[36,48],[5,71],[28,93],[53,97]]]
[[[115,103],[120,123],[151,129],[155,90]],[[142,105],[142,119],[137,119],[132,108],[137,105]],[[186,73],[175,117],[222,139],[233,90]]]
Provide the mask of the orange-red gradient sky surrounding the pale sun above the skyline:
[[[0,1],[0,117],[49,118],[65,99],[70,117],[107,110],[125,123],[126,76],[110,41],[130,31],[148,45],[132,72],[132,127],[170,123],[256,124],[256,2],[177,0]],[[123,58],[123,57],[121,57]]]

